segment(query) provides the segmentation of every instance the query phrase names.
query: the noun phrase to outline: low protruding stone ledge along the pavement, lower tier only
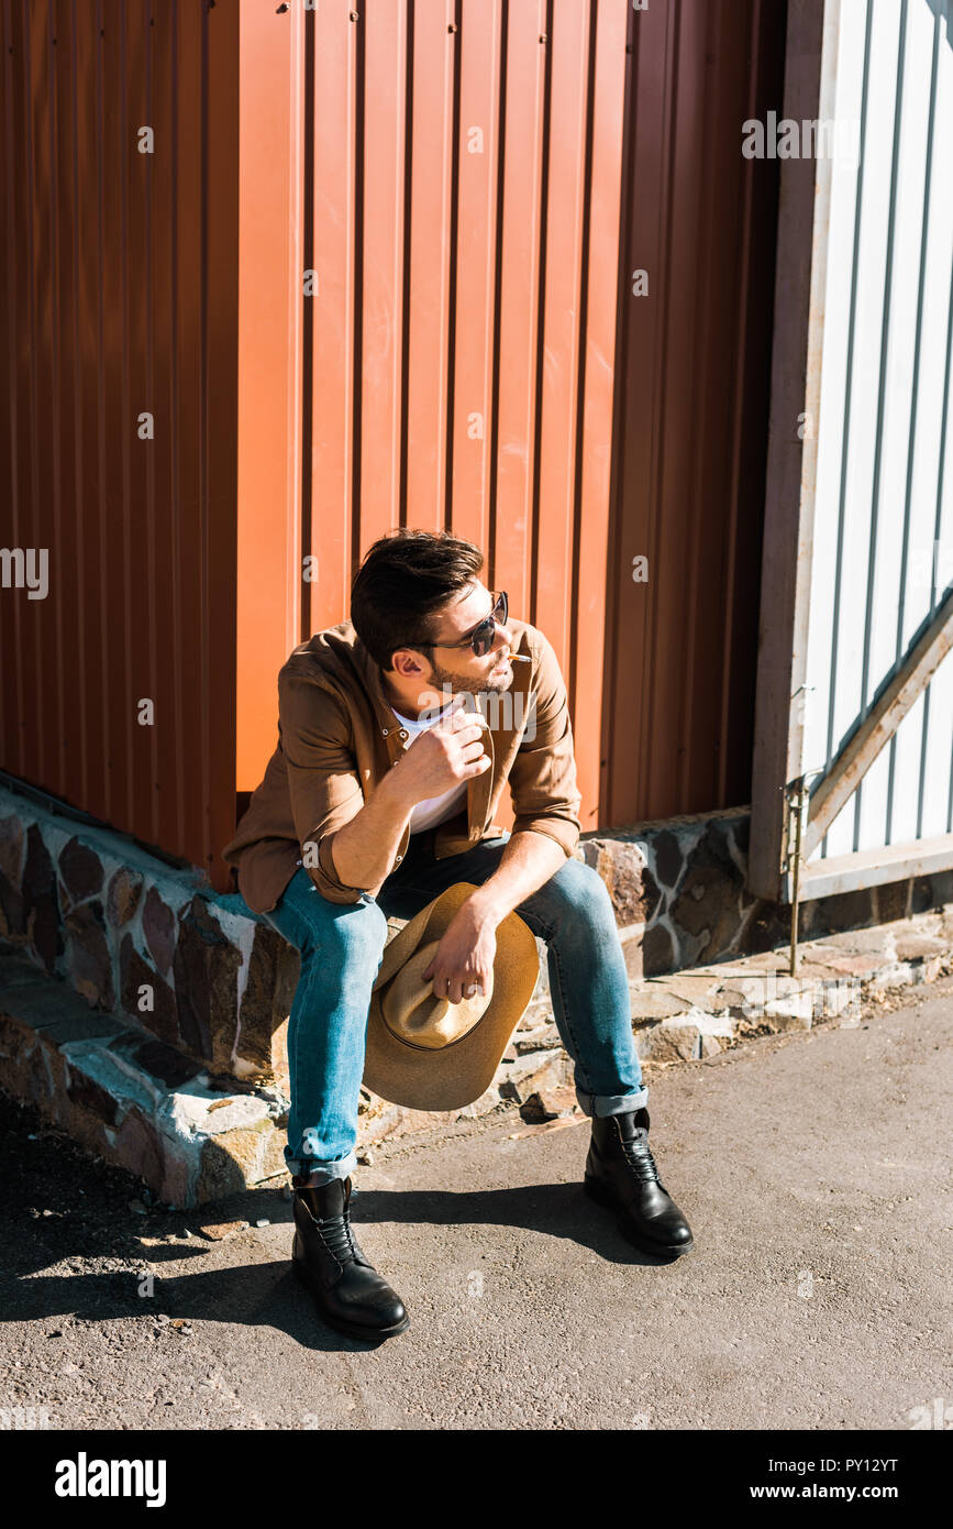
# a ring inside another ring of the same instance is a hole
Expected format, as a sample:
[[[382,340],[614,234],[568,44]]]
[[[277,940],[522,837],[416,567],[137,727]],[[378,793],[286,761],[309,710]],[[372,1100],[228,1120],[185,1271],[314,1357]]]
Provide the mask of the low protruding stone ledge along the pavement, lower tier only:
[[[399,920],[394,920],[394,928]],[[0,1084],[34,1102],[47,1125],[136,1174],[162,1202],[191,1208],[287,1176],[287,1099],[279,1087],[235,1086],[115,1015],[90,1012],[64,982],[23,953],[0,968]],[[855,1026],[895,988],[953,971],[953,905],[875,931],[800,948],[797,977],[782,946],[631,985],[646,1083],[771,1032]],[[400,1139],[432,1138],[495,1112],[527,1130],[582,1119],[571,1061],[545,1008],[530,1006],[493,1086],[464,1110],[406,1110],[360,1090],[359,1159]]]

